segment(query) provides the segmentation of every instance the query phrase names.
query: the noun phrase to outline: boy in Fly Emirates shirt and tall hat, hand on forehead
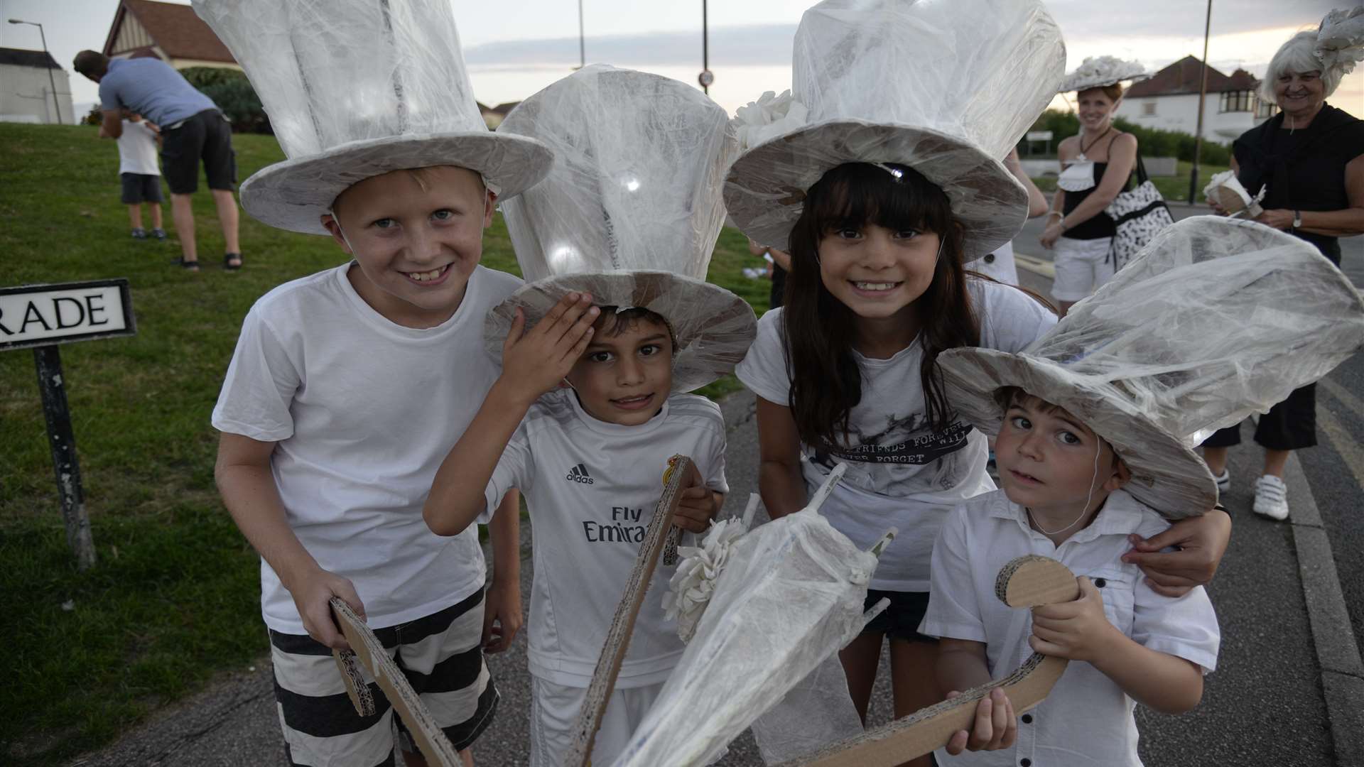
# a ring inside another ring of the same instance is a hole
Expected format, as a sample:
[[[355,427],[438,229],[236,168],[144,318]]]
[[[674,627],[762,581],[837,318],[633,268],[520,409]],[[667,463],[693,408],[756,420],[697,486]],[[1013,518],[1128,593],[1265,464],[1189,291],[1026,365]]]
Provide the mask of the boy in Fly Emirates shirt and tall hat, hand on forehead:
[[[704,283],[724,221],[732,134],[696,89],[582,68],[521,102],[498,132],[555,150],[544,183],[503,205],[535,278],[488,318],[502,375],[436,474],[423,515],[460,534],[510,489],[533,534],[531,764],[558,767],[674,454],[689,456],[672,523],[701,532],[728,491],[724,422],[687,394],[743,358],[753,310]],[[664,160],[670,158],[670,160]],[[629,169],[629,171],[622,171]],[[566,382],[567,388],[558,388]],[[683,644],[660,565],[596,734],[610,764]]]

